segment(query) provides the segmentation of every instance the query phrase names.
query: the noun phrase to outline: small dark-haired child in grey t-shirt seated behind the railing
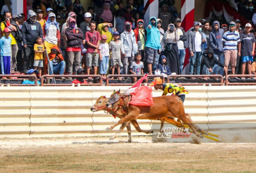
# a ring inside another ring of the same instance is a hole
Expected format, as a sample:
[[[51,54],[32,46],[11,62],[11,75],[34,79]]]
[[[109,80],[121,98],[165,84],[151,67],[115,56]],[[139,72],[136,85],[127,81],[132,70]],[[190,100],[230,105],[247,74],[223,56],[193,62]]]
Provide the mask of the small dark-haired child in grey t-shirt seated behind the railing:
[[[141,54],[138,52],[135,54],[135,61],[132,62],[131,64],[131,74],[134,75],[143,75],[143,69],[144,69],[144,65],[143,62],[140,61],[141,60]],[[137,77],[132,77],[133,79],[133,83],[135,83],[137,81]],[[144,82],[147,83],[147,79],[144,79]]]

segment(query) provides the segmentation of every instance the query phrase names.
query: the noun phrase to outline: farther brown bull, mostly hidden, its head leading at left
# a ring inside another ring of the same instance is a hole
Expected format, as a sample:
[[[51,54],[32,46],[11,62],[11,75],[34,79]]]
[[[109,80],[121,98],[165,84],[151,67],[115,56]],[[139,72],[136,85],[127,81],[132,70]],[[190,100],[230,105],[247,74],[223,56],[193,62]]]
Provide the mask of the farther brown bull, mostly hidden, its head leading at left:
[[[92,112],[97,112],[97,111],[108,111],[110,114],[114,115],[115,117],[118,117],[118,118],[123,118],[127,115],[127,113],[122,109],[122,107],[117,107],[117,109],[113,110],[112,107],[108,108],[106,107],[106,102],[108,102],[108,98],[106,98],[105,96],[100,96],[95,104],[93,105],[93,107],[91,107],[91,111]],[[140,128],[138,122],[136,120],[131,120],[133,126],[135,127],[135,129],[138,131],[138,132],[144,132],[146,134],[149,134],[149,133],[153,133],[153,131],[144,131]],[[129,135],[129,140],[128,142],[131,142],[132,141],[132,137],[131,137],[131,125],[129,122],[124,122],[122,123],[121,127],[119,128],[119,131],[114,135],[112,136],[110,139],[113,140],[117,137],[117,135],[122,132],[122,130],[124,128],[127,128],[127,132],[128,132],[128,135]]]

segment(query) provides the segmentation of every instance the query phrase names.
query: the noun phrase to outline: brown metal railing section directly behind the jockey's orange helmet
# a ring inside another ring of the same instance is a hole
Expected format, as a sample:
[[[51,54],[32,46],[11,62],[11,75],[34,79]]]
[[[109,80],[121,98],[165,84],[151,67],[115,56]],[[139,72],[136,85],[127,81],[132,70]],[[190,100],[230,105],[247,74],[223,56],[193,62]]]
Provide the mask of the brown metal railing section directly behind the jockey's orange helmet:
[[[129,75],[108,75],[106,76],[106,86],[110,86],[110,85],[119,85],[119,86],[130,86],[133,85],[134,83],[109,83],[110,77],[137,77],[137,80],[140,79],[140,77],[143,77],[144,75],[133,75],[133,74],[129,74]],[[165,79],[163,77],[163,75],[147,75],[148,78],[153,78],[153,77],[161,77],[163,82],[165,82]],[[142,83],[143,84],[143,83]]]

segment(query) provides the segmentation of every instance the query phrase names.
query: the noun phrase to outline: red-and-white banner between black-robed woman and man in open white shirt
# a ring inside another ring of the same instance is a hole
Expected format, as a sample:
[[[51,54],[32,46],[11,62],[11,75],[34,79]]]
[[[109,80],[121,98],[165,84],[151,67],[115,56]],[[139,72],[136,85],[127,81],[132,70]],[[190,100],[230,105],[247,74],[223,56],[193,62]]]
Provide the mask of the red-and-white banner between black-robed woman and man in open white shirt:
[[[187,32],[191,27],[193,27],[194,14],[195,14],[195,0],[181,0],[181,21],[182,21],[181,27],[183,27],[185,32]],[[186,56],[185,56],[183,71],[186,65],[189,63],[188,61],[189,56],[190,56],[189,50],[186,49]],[[184,73],[186,72],[183,72],[182,74]]]

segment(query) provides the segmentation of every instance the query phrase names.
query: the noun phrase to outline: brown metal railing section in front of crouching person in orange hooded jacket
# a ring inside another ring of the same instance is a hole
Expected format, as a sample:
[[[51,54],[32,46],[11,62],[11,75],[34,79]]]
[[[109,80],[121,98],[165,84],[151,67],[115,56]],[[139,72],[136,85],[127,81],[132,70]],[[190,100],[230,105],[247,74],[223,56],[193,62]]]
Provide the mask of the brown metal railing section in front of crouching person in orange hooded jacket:
[[[44,84],[44,80],[45,78],[61,78],[61,77],[72,77],[72,78],[78,78],[78,77],[83,77],[83,78],[88,78],[88,77],[98,77],[99,78],[99,83],[81,83],[80,85],[84,85],[84,86],[87,86],[87,85],[97,85],[97,86],[102,86],[102,77],[100,75],[42,75],[41,78],[40,78],[40,81],[41,81],[41,86],[71,86],[72,83],[58,83],[58,84],[50,84],[50,83],[46,83]],[[77,85],[77,84],[75,84]]]

